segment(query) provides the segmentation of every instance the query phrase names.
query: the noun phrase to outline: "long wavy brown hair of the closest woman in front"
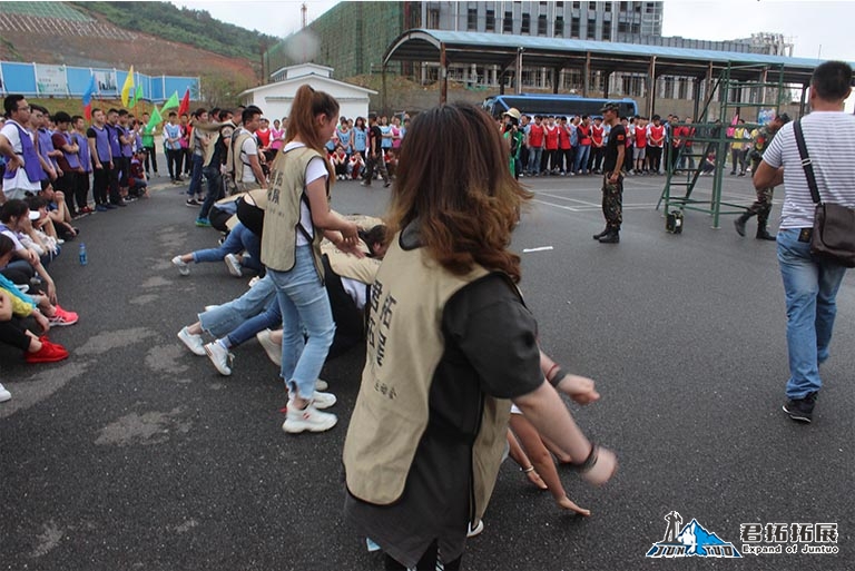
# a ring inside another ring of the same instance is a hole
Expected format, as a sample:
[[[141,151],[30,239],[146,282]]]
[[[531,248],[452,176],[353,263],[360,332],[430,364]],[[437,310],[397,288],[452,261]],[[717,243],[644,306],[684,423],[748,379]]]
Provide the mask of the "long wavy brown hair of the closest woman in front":
[[[419,114],[401,145],[390,236],[417,219],[421,244],[449,272],[480,264],[519,282],[520,257],[508,246],[531,196],[511,176],[493,120],[468,104],[442,105]]]

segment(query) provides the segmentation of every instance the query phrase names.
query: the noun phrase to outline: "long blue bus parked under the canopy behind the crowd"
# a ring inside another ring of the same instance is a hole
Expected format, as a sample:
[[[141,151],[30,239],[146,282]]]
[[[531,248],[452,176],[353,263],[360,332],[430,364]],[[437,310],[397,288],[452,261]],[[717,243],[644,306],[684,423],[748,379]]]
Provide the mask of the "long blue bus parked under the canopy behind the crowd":
[[[579,97],[574,95],[553,93],[520,93],[499,95],[484,99],[482,107],[495,118],[500,118],[504,111],[515,107],[521,114],[528,116],[572,117],[574,115],[601,117],[600,109],[607,102],[620,106],[621,117],[638,115],[638,105],[632,99],[602,99],[598,97]]]

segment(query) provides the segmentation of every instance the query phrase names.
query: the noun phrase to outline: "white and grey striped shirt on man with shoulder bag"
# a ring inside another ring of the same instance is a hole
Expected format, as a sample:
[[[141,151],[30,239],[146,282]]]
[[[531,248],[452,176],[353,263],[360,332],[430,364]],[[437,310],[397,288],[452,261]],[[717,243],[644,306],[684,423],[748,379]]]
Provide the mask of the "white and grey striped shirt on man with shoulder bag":
[[[815,111],[802,119],[802,130],[820,199],[854,208],[855,116],[843,111]],[[773,168],[784,167],[780,228],[812,228],[816,205],[802,168],[793,122],[780,128],[763,154],[763,160]]]

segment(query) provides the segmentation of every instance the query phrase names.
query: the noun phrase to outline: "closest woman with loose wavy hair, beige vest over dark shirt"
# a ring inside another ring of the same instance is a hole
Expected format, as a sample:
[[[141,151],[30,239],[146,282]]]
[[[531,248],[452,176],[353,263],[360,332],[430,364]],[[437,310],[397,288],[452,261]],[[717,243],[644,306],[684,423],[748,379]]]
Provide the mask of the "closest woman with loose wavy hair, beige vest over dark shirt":
[[[579,377],[550,364],[515,287],[520,205],[492,119],[470,105],[415,118],[401,146],[390,244],[368,301],[367,356],[344,445],[345,513],[386,569],[460,569],[505,447],[510,402],[606,482],[615,455],[591,444],[558,391]],[[586,380],[588,381],[588,380]],[[592,392],[592,383],[587,387]]]

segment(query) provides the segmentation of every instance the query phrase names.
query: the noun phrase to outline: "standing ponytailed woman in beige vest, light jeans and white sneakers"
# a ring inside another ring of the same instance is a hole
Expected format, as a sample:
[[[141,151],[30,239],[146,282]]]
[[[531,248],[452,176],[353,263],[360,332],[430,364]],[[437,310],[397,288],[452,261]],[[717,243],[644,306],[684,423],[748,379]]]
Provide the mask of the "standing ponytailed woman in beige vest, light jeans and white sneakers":
[[[321,240],[358,256],[358,227],[330,209],[334,178],[324,142],[338,122],[338,102],[304,85],[297,89],[285,146],[276,155],[267,190],[262,263],[276,286],[283,318],[282,378],[288,388],[283,430],[323,432],[334,414],[321,412],[335,396],[315,391],[333,343],[335,323],[323,282]],[[303,331],[308,336],[303,339]]]

